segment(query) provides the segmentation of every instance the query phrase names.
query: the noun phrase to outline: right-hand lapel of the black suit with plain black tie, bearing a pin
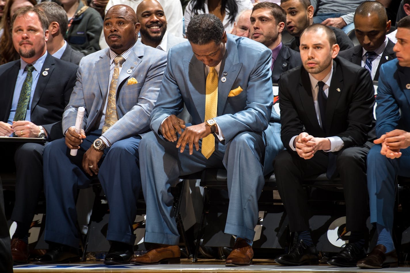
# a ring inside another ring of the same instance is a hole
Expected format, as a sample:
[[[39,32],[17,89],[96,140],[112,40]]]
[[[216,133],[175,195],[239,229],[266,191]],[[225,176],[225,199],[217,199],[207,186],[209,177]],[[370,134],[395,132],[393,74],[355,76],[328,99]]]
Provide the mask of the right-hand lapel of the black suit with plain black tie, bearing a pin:
[[[336,108],[342,92],[344,92],[342,68],[337,66],[336,61],[333,60],[333,74],[332,80],[330,81],[328,100],[326,103],[326,134],[329,133],[329,125],[332,124],[334,109]]]

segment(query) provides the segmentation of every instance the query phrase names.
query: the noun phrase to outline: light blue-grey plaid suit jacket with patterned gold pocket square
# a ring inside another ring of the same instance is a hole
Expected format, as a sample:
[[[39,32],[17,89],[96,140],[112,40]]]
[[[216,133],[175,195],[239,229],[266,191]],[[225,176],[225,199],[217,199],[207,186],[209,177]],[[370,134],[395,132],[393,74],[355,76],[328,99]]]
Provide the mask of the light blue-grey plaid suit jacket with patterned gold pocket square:
[[[63,114],[63,132],[75,125],[77,109],[85,107],[83,129],[86,135],[98,129],[109,86],[109,49],[82,58],[70,101]],[[137,41],[123,63],[117,82],[118,121],[103,136],[112,145],[118,140],[149,130],[149,117],[164,76],[166,53]],[[130,72],[131,73],[128,73]],[[137,84],[128,85],[134,77]]]

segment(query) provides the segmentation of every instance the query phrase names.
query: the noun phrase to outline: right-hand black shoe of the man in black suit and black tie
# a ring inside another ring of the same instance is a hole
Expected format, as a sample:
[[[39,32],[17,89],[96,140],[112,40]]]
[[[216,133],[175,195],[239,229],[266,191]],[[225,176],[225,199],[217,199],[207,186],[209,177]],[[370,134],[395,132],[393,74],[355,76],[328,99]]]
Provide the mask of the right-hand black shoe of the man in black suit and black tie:
[[[355,267],[358,260],[366,257],[364,248],[358,248],[353,243],[346,243],[336,256],[328,260],[328,264],[341,267]]]

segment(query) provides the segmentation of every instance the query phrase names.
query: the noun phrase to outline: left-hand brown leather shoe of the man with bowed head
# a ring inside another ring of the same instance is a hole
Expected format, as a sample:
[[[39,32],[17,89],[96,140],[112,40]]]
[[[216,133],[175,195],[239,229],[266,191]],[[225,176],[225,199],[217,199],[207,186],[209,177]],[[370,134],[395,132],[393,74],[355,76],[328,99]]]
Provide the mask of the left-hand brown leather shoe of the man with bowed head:
[[[179,264],[181,251],[179,246],[156,244],[147,253],[134,256],[131,264]]]

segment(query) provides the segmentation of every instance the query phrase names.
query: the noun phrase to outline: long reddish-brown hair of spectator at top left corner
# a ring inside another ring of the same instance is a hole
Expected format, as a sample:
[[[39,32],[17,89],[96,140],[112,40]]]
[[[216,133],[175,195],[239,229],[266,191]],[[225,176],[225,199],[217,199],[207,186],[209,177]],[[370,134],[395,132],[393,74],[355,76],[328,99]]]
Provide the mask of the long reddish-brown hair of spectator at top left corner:
[[[16,49],[13,46],[13,39],[11,38],[11,5],[15,0],[7,0],[4,7],[4,14],[1,18],[0,28],[3,28],[3,35],[0,38],[0,65],[6,64],[9,61],[14,61],[20,58]],[[27,0],[36,5],[36,0]]]

